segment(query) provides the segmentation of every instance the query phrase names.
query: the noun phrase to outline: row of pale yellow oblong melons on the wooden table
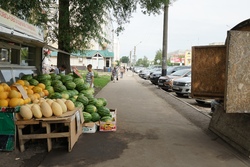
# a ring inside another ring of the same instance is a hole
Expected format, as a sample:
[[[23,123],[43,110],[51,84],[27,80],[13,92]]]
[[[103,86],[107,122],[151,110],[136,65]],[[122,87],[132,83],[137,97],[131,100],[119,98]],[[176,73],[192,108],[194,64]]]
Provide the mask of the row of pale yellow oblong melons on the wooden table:
[[[17,113],[17,119],[30,120],[32,118],[61,116],[74,109],[75,105],[71,100],[40,98],[38,102],[22,105],[20,112]]]

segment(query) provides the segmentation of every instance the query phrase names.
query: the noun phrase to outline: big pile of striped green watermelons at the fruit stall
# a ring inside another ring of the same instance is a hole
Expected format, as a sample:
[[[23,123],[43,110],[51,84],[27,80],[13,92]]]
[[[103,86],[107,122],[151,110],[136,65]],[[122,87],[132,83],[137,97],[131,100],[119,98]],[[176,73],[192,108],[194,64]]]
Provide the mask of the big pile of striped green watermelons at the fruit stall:
[[[71,74],[40,74],[35,77],[24,75],[31,85],[43,83],[49,92],[50,99],[69,99],[76,107],[83,108],[85,122],[112,120],[105,98],[95,98],[94,89],[79,75]]]

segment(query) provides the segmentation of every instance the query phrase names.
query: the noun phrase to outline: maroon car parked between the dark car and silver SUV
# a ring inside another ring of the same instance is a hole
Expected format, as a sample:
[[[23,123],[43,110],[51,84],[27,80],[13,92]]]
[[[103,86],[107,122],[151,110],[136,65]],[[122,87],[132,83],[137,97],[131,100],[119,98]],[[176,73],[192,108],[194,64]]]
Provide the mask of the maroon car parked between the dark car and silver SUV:
[[[191,74],[191,69],[178,70],[170,75],[161,76],[158,79],[158,86],[164,90],[172,89],[174,80],[182,77],[187,77]]]

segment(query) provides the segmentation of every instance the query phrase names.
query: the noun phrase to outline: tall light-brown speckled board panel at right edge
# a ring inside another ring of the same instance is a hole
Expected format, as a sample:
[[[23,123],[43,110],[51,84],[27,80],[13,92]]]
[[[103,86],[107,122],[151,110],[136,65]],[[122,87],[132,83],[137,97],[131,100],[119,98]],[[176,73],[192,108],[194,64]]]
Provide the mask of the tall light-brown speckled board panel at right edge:
[[[250,113],[250,32],[229,31],[225,110]]]

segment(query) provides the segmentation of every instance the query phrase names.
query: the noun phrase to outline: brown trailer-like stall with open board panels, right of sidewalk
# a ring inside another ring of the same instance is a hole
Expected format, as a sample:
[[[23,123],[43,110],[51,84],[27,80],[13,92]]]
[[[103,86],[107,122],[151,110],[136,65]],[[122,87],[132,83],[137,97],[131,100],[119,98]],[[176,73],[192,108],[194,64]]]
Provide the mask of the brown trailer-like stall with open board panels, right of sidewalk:
[[[250,156],[250,19],[228,31],[225,45],[192,48],[192,97],[217,98],[209,129]],[[199,70],[200,69],[200,70]]]

